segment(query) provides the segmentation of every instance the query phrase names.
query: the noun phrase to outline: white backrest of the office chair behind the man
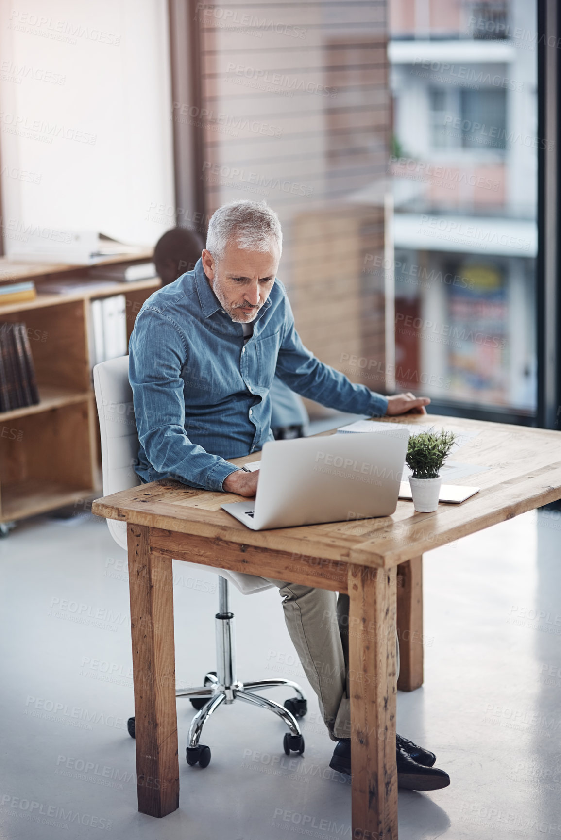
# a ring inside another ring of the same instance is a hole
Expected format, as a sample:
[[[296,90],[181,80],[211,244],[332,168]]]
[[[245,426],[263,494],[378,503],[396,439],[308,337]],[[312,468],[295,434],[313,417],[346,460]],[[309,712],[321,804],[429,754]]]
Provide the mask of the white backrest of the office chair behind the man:
[[[139,441],[129,383],[129,357],[119,356],[95,365],[93,390],[98,405],[103,496],[110,496],[140,484],[135,473]],[[113,519],[107,523],[116,542],[126,549],[126,524]]]

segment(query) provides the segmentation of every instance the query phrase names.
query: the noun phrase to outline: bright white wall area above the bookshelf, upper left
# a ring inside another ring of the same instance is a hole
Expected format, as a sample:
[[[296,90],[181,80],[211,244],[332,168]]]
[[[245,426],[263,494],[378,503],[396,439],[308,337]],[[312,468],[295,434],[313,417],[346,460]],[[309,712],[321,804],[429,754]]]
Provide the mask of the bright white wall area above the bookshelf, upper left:
[[[21,228],[151,245],[171,227],[165,0],[0,0],[4,245]],[[20,80],[20,81],[18,81]]]

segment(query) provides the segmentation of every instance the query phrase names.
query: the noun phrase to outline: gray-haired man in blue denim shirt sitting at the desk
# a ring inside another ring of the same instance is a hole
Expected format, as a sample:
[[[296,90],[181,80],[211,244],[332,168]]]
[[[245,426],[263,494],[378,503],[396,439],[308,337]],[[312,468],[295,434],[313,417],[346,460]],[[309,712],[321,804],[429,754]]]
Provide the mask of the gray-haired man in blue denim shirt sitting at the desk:
[[[273,439],[274,375],[292,390],[345,412],[425,412],[412,394],[380,396],[322,364],[294,328],[276,279],[283,234],[265,202],[233,202],[211,218],[206,249],[193,271],[156,291],[130,339],[130,384],[140,438],[136,471],[144,481],[171,477],[189,486],[254,496],[258,472],[228,463]],[[348,596],[274,580],[288,632],[320,701],[331,767],[351,772],[347,684]],[[399,784],[445,787],[436,757],[400,738]]]

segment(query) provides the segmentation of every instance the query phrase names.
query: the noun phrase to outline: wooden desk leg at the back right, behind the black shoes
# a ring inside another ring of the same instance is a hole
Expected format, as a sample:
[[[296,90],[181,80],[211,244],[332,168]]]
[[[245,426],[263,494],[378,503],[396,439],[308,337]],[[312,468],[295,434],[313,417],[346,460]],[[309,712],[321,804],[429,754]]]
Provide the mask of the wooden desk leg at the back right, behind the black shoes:
[[[423,558],[397,567],[397,632],[400,640],[400,691],[423,684]]]

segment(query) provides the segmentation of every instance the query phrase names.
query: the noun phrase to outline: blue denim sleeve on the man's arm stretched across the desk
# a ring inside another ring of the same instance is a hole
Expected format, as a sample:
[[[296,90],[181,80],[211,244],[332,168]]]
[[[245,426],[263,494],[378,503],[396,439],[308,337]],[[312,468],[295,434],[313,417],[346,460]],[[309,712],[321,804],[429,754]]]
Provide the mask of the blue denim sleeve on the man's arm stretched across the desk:
[[[365,385],[354,384],[346,375],[316,359],[304,347],[294,328],[294,315],[286,295],[284,306],[284,333],[275,370],[278,378],[297,394],[320,402],[322,406],[382,417],[388,408],[387,398]]]

